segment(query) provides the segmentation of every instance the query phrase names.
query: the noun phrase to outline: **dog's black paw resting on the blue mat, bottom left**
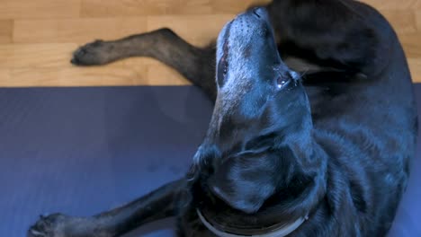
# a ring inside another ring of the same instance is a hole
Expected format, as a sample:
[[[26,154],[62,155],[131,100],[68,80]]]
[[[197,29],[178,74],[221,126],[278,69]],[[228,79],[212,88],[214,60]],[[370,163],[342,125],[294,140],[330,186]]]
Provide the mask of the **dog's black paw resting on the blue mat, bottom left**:
[[[74,236],[67,233],[76,223],[76,217],[54,214],[43,216],[28,230],[28,237],[66,237]]]

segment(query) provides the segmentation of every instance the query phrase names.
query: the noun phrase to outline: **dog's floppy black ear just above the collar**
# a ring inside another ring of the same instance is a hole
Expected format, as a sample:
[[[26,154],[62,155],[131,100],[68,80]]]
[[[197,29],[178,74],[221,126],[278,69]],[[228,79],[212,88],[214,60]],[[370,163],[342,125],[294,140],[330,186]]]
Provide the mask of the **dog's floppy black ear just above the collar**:
[[[282,182],[278,153],[248,153],[230,157],[210,177],[211,192],[246,214],[257,212]]]

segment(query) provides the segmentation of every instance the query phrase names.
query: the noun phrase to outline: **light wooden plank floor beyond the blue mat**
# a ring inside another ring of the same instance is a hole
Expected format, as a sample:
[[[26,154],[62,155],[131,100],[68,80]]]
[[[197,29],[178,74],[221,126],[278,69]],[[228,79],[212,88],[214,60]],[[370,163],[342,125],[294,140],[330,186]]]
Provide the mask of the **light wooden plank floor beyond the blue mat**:
[[[268,1],[0,0],[0,86],[186,84],[152,59],[130,58],[89,68],[71,66],[69,60],[71,52],[87,41],[164,26],[201,46],[215,38],[235,13],[256,2]],[[395,26],[414,81],[421,82],[421,0],[364,2]]]

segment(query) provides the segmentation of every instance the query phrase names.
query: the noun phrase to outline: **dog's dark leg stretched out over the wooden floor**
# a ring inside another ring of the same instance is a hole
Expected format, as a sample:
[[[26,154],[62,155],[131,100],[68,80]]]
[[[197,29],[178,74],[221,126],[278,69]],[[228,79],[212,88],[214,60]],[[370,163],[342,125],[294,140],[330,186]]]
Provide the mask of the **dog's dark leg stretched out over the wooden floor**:
[[[153,57],[172,66],[211,99],[216,98],[215,47],[197,48],[174,31],[160,29],[121,40],[96,40],[78,48],[71,60],[77,66],[104,65],[126,57]]]

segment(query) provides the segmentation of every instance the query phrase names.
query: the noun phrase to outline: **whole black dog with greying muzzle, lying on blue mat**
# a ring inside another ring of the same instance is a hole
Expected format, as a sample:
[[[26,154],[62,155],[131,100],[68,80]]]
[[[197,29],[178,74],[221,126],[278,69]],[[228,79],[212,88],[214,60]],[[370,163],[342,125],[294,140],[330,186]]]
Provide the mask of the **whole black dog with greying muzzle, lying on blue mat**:
[[[417,111],[398,37],[372,7],[275,0],[228,22],[216,49],[162,29],[95,41],[72,62],[135,56],[175,67],[215,101],[190,171],[99,215],[41,216],[28,236],[120,236],[172,215],[179,236],[388,233]]]

